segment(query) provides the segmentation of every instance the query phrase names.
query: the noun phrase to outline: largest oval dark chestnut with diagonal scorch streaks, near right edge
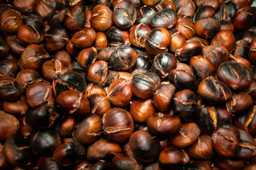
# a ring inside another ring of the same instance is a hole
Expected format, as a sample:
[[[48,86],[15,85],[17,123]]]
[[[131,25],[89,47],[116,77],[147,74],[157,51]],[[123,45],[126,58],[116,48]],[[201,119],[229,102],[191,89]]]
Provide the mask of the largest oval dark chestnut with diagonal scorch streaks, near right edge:
[[[247,89],[254,81],[252,69],[238,62],[223,62],[218,67],[217,75],[220,81],[237,91]]]

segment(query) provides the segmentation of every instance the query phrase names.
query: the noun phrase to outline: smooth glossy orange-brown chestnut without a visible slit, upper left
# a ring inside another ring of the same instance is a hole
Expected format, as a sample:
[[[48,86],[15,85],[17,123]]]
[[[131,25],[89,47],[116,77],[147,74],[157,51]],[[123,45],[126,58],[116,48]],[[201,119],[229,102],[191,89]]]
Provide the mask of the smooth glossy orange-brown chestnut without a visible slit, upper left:
[[[96,39],[96,32],[93,28],[87,27],[76,32],[71,38],[71,42],[75,47],[90,47]]]

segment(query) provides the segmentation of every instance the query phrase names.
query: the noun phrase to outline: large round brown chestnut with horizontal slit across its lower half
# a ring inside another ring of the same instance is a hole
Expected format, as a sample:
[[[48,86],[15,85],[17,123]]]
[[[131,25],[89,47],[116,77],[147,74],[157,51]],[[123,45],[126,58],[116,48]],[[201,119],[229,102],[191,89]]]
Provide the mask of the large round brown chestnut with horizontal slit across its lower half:
[[[104,134],[117,143],[129,140],[134,129],[132,115],[122,108],[112,108],[102,118]]]

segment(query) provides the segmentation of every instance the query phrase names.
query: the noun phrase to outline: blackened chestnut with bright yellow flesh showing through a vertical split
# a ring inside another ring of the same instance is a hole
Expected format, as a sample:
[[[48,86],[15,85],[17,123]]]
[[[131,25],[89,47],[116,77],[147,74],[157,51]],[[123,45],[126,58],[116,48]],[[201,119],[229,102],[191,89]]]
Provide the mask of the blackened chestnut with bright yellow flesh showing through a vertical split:
[[[232,124],[232,118],[222,106],[203,106],[198,114],[197,125],[204,134],[212,134],[223,125]]]

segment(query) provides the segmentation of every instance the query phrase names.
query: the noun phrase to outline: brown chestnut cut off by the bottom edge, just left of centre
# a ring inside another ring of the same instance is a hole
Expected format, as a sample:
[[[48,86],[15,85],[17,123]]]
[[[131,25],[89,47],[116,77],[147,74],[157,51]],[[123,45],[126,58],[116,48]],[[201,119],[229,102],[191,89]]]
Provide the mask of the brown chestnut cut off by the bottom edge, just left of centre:
[[[122,170],[143,169],[142,163],[137,162],[137,160],[129,154],[116,154],[112,159],[112,166],[114,167],[114,169]]]

